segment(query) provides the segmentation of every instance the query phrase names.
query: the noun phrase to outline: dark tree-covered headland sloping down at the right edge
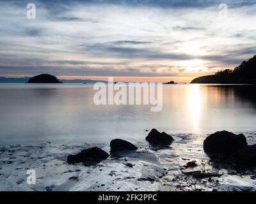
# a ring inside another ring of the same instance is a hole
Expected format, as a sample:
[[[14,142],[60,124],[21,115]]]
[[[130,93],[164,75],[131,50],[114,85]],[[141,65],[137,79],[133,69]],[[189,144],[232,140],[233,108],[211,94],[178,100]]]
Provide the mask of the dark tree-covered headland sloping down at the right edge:
[[[256,84],[256,55],[233,70],[225,69],[215,75],[198,77],[191,84]]]

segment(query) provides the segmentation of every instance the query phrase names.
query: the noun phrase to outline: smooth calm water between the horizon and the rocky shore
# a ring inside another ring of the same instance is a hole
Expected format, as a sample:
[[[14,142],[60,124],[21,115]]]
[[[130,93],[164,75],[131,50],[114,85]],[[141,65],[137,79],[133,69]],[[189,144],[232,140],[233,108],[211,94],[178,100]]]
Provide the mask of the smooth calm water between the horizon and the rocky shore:
[[[93,85],[0,84],[1,143],[144,140],[145,130],[167,133],[255,131],[255,87],[165,85],[163,110],[96,106]]]

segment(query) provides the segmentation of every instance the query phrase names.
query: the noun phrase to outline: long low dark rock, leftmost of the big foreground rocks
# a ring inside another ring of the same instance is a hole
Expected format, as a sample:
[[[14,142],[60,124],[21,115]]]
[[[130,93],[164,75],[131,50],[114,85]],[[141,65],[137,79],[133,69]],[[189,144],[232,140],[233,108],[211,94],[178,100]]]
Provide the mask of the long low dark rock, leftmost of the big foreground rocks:
[[[90,166],[100,163],[100,161],[108,159],[108,157],[107,152],[98,147],[93,147],[91,149],[85,149],[77,155],[69,155],[67,161],[69,164],[84,163],[84,165]]]

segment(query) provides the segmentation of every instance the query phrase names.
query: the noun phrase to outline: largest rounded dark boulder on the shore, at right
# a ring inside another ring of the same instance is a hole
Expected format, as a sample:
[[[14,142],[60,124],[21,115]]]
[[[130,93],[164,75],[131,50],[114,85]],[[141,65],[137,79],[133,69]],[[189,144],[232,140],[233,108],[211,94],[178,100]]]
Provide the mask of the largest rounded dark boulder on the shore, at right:
[[[204,150],[210,154],[224,154],[230,156],[247,145],[243,134],[235,135],[228,131],[216,132],[204,140]]]

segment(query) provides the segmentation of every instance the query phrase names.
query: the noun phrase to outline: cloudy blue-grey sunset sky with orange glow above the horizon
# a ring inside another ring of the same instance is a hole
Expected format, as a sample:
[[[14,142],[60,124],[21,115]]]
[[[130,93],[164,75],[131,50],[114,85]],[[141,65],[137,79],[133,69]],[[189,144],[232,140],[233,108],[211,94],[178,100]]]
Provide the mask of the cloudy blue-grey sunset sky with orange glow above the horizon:
[[[0,20],[3,77],[190,82],[256,54],[256,0],[1,0]]]

